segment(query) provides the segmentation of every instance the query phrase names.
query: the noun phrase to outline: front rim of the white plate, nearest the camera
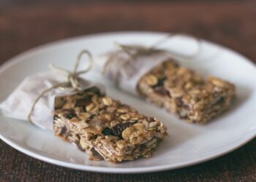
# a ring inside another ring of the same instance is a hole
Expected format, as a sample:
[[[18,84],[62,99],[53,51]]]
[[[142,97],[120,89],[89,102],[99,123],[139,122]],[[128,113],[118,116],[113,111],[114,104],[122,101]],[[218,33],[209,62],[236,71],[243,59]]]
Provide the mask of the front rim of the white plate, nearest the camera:
[[[26,149],[18,143],[12,141],[8,137],[4,137],[4,135],[0,134],[0,139],[4,141],[4,143],[7,143],[8,145],[12,146],[12,148],[22,152],[23,154],[28,155],[29,157],[33,157],[35,159],[39,159],[42,162],[48,162],[52,165],[57,165],[61,167],[66,167],[66,168],[71,168],[75,170],[85,170],[89,172],[97,172],[97,173],[116,173],[116,174],[130,174],[130,173],[151,173],[151,172],[159,172],[159,171],[165,171],[165,170],[175,170],[175,169],[180,169],[183,167],[189,167],[192,165],[197,165],[203,162],[210,161],[211,159],[216,159],[218,157],[222,157],[225,154],[229,154],[232,151],[235,151],[236,149],[240,148],[241,146],[244,146],[246,143],[249,141],[252,141],[252,139],[255,138],[256,135],[252,135],[249,138],[245,138],[244,140],[241,140],[238,145],[235,147],[228,147],[225,151],[220,151],[219,153],[212,154],[211,156],[208,157],[203,157],[201,159],[195,159],[191,160],[189,162],[183,162],[179,163],[178,165],[161,165],[157,167],[94,167],[94,166],[89,166],[89,165],[78,165],[78,164],[73,164],[71,162],[63,162],[59,159],[54,159],[52,157],[47,157],[43,154],[37,154],[34,151],[30,151],[29,149]]]

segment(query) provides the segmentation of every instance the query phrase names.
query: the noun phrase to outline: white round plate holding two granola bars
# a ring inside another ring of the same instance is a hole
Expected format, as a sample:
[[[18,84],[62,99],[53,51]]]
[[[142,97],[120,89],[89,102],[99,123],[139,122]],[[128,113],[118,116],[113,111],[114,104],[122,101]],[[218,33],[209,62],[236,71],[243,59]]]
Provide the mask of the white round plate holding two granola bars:
[[[48,70],[49,63],[72,68],[78,52],[88,49],[94,56],[113,49],[113,41],[150,45],[165,36],[164,33],[126,32],[104,33],[80,36],[57,41],[24,52],[9,60],[0,69],[0,100],[4,100],[25,76]],[[170,41],[176,51],[195,52],[193,41],[178,36]],[[146,173],[194,165],[237,149],[252,140],[256,134],[256,68],[248,59],[208,41],[203,41],[200,55],[194,60],[180,61],[203,75],[219,76],[236,84],[237,98],[233,107],[225,114],[200,126],[188,124],[172,114],[139,98],[116,90],[97,71],[91,71],[86,78],[102,82],[108,95],[137,108],[148,116],[156,116],[167,126],[170,137],[165,140],[154,156],[134,162],[111,164],[95,162],[72,146],[29,122],[0,116],[1,140],[10,146],[45,162],[104,173]]]

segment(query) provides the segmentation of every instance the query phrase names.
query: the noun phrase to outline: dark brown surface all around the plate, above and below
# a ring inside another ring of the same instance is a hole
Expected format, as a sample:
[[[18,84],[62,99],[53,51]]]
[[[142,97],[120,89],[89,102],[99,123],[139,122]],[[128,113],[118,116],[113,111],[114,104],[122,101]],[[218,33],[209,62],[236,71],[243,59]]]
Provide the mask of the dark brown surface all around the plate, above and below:
[[[49,41],[109,31],[190,33],[241,52],[256,63],[256,1],[78,0],[50,4],[1,0],[0,63]],[[200,165],[135,175],[50,165],[0,141],[0,181],[256,181],[256,139]]]

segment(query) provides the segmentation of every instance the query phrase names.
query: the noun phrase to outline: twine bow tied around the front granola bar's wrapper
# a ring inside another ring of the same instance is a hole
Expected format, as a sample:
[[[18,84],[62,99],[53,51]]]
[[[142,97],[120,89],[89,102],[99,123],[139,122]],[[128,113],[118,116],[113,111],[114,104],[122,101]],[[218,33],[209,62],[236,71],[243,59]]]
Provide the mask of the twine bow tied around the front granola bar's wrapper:
[[[78,71],[78,66],[80,64],[80,60],[84,54],[89,57],[89,66],[88,66],[88,68],[86,68],[83,71]],[[34,103],[31,107],[31,110],[28,115],[29,122],[34,124],[33,120],[31,119],[31,116],[34,113],[34,108],[37,105],[37,102],[40,100],[40,98],[42,98],[45,95],[45,93],[50,92],[50,90],[53,90],[56,88],[64,90],[65,92],[75,92],[75,91],[82,90],[80,87],[80,84],[79,84],[79,79],[80,79],[79,76],[81,74],[86,74],[88,71],[90,71],[91,67],[92,67],[92,63],[93,63],[93,58],[91,56],[91,53],[88,50],[82,50],[79,53],[77,60],[75,61],[75,66],[74,66],[73,71],[68,71],[63,68],[58,68],[58,67],[54,66],[53,64],[50,64],[49,67],[51,70],[55,71],[56,73],[63,74],[64,76],[67,76],[67,82],[61,82],[59,84],[54,84],[52,87],[44,90],[41,94],[39,94],[37,96],[37,98],[34,100]]]

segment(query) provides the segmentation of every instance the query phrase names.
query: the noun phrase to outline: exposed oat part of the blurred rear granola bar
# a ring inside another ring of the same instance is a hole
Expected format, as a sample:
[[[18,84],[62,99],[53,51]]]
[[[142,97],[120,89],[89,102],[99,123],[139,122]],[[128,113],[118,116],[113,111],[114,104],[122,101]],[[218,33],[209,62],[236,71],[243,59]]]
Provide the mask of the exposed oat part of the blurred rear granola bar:
[[[235,87],[213,76],[204,80],[194,71],[167,60],[140,79],[138,92],[181,119],[205,123],[229,108]]]

